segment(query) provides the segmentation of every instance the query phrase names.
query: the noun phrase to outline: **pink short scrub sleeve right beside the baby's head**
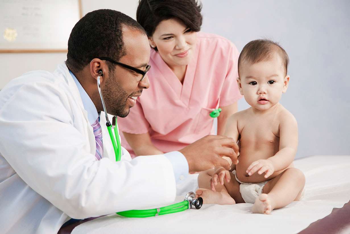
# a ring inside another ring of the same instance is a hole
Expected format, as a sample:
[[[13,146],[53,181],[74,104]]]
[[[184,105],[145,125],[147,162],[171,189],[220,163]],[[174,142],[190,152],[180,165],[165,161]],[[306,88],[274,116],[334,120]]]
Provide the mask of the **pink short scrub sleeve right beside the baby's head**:
[[[223,53],[226,57],[225,61],[228,61],[228,66],[227,74],[220,94],[220,107],[229,106],[242,98],[237,85],[239,52],[236,46],[231,42],[228,44],[228,46],[229,48],[227,48],[225,53]],[[229,53],[227,53],[227,51],[229,51]],[[227,57],[227,55],[229,56]]]

